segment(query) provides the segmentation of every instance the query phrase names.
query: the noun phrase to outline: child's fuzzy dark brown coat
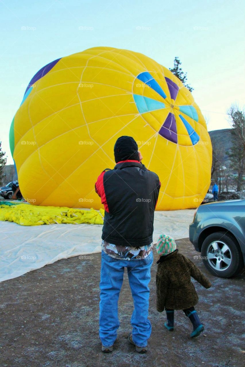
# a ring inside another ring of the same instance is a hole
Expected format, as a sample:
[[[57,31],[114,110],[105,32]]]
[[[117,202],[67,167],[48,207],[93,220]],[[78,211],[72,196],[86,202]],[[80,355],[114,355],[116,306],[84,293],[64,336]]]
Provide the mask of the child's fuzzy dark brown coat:
[[[164,311],[164,307],[183,310],[195,306],[198,295],[192,284],[191,277],[205,288],[212,284],[205,275],[184,255],[174,251],[160,258],[157,265],[157,311]]]

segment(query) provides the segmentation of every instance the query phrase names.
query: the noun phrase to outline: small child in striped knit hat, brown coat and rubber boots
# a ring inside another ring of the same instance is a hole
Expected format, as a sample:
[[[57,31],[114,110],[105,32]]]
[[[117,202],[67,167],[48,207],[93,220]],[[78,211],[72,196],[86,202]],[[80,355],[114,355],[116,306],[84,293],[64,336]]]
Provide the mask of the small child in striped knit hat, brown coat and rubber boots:
[[[193,325],[191,338],[195,338],[204,330],[194,306],[198,295],[191,282],[191,276],[205,288],[212,284],[198,267],[184,255],[178,253],[173,238],[160,235],[156,250],[159,254],[157,261],[157,311],[167,314],[164,326],[169,331],[174,330],[174,310],[183,310]]]

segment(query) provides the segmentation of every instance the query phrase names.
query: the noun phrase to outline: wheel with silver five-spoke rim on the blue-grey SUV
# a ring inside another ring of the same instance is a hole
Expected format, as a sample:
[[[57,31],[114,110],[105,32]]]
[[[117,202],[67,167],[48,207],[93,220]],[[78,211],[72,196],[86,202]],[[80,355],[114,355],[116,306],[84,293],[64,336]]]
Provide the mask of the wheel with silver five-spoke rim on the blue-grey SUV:
[[[244,266],[240,247],[228,233],[215,232],[207,236],[201,255],[209,272],[221,278],[235,276]]]

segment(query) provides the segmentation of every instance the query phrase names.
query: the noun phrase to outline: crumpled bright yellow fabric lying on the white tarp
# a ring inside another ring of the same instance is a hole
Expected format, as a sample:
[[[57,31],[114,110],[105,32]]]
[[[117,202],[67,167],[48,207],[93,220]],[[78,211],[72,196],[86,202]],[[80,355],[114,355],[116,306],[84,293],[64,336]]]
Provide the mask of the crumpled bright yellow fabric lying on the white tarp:
[[[42,224],[103,224],[104,210],[99,212],[67,207],[36,206],[30,204],[0,205],[0,221],[15,222],[22,226]]]

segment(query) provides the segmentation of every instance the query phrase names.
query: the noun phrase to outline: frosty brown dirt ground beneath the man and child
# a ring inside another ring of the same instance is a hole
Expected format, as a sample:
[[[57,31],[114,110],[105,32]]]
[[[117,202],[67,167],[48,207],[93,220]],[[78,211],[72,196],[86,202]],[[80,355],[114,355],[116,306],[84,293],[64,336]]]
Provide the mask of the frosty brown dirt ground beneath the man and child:
[[[0,283],[0,366],[139,367],[245,366],[244,279],[210,275],[188,239],[179,250],[207,275],[212,288],[195,283],[196,306],[205,331],[195,339],[190,321],[175,313],[175,330],[163,327],[156,311],[156,252],[150,283],[152,335],[145,355],[135,352],[127,335],[133,310],[127,272],[119,300],[120,328],[113,353],[100,351],[98,335],[100,254],[70,258]]]

